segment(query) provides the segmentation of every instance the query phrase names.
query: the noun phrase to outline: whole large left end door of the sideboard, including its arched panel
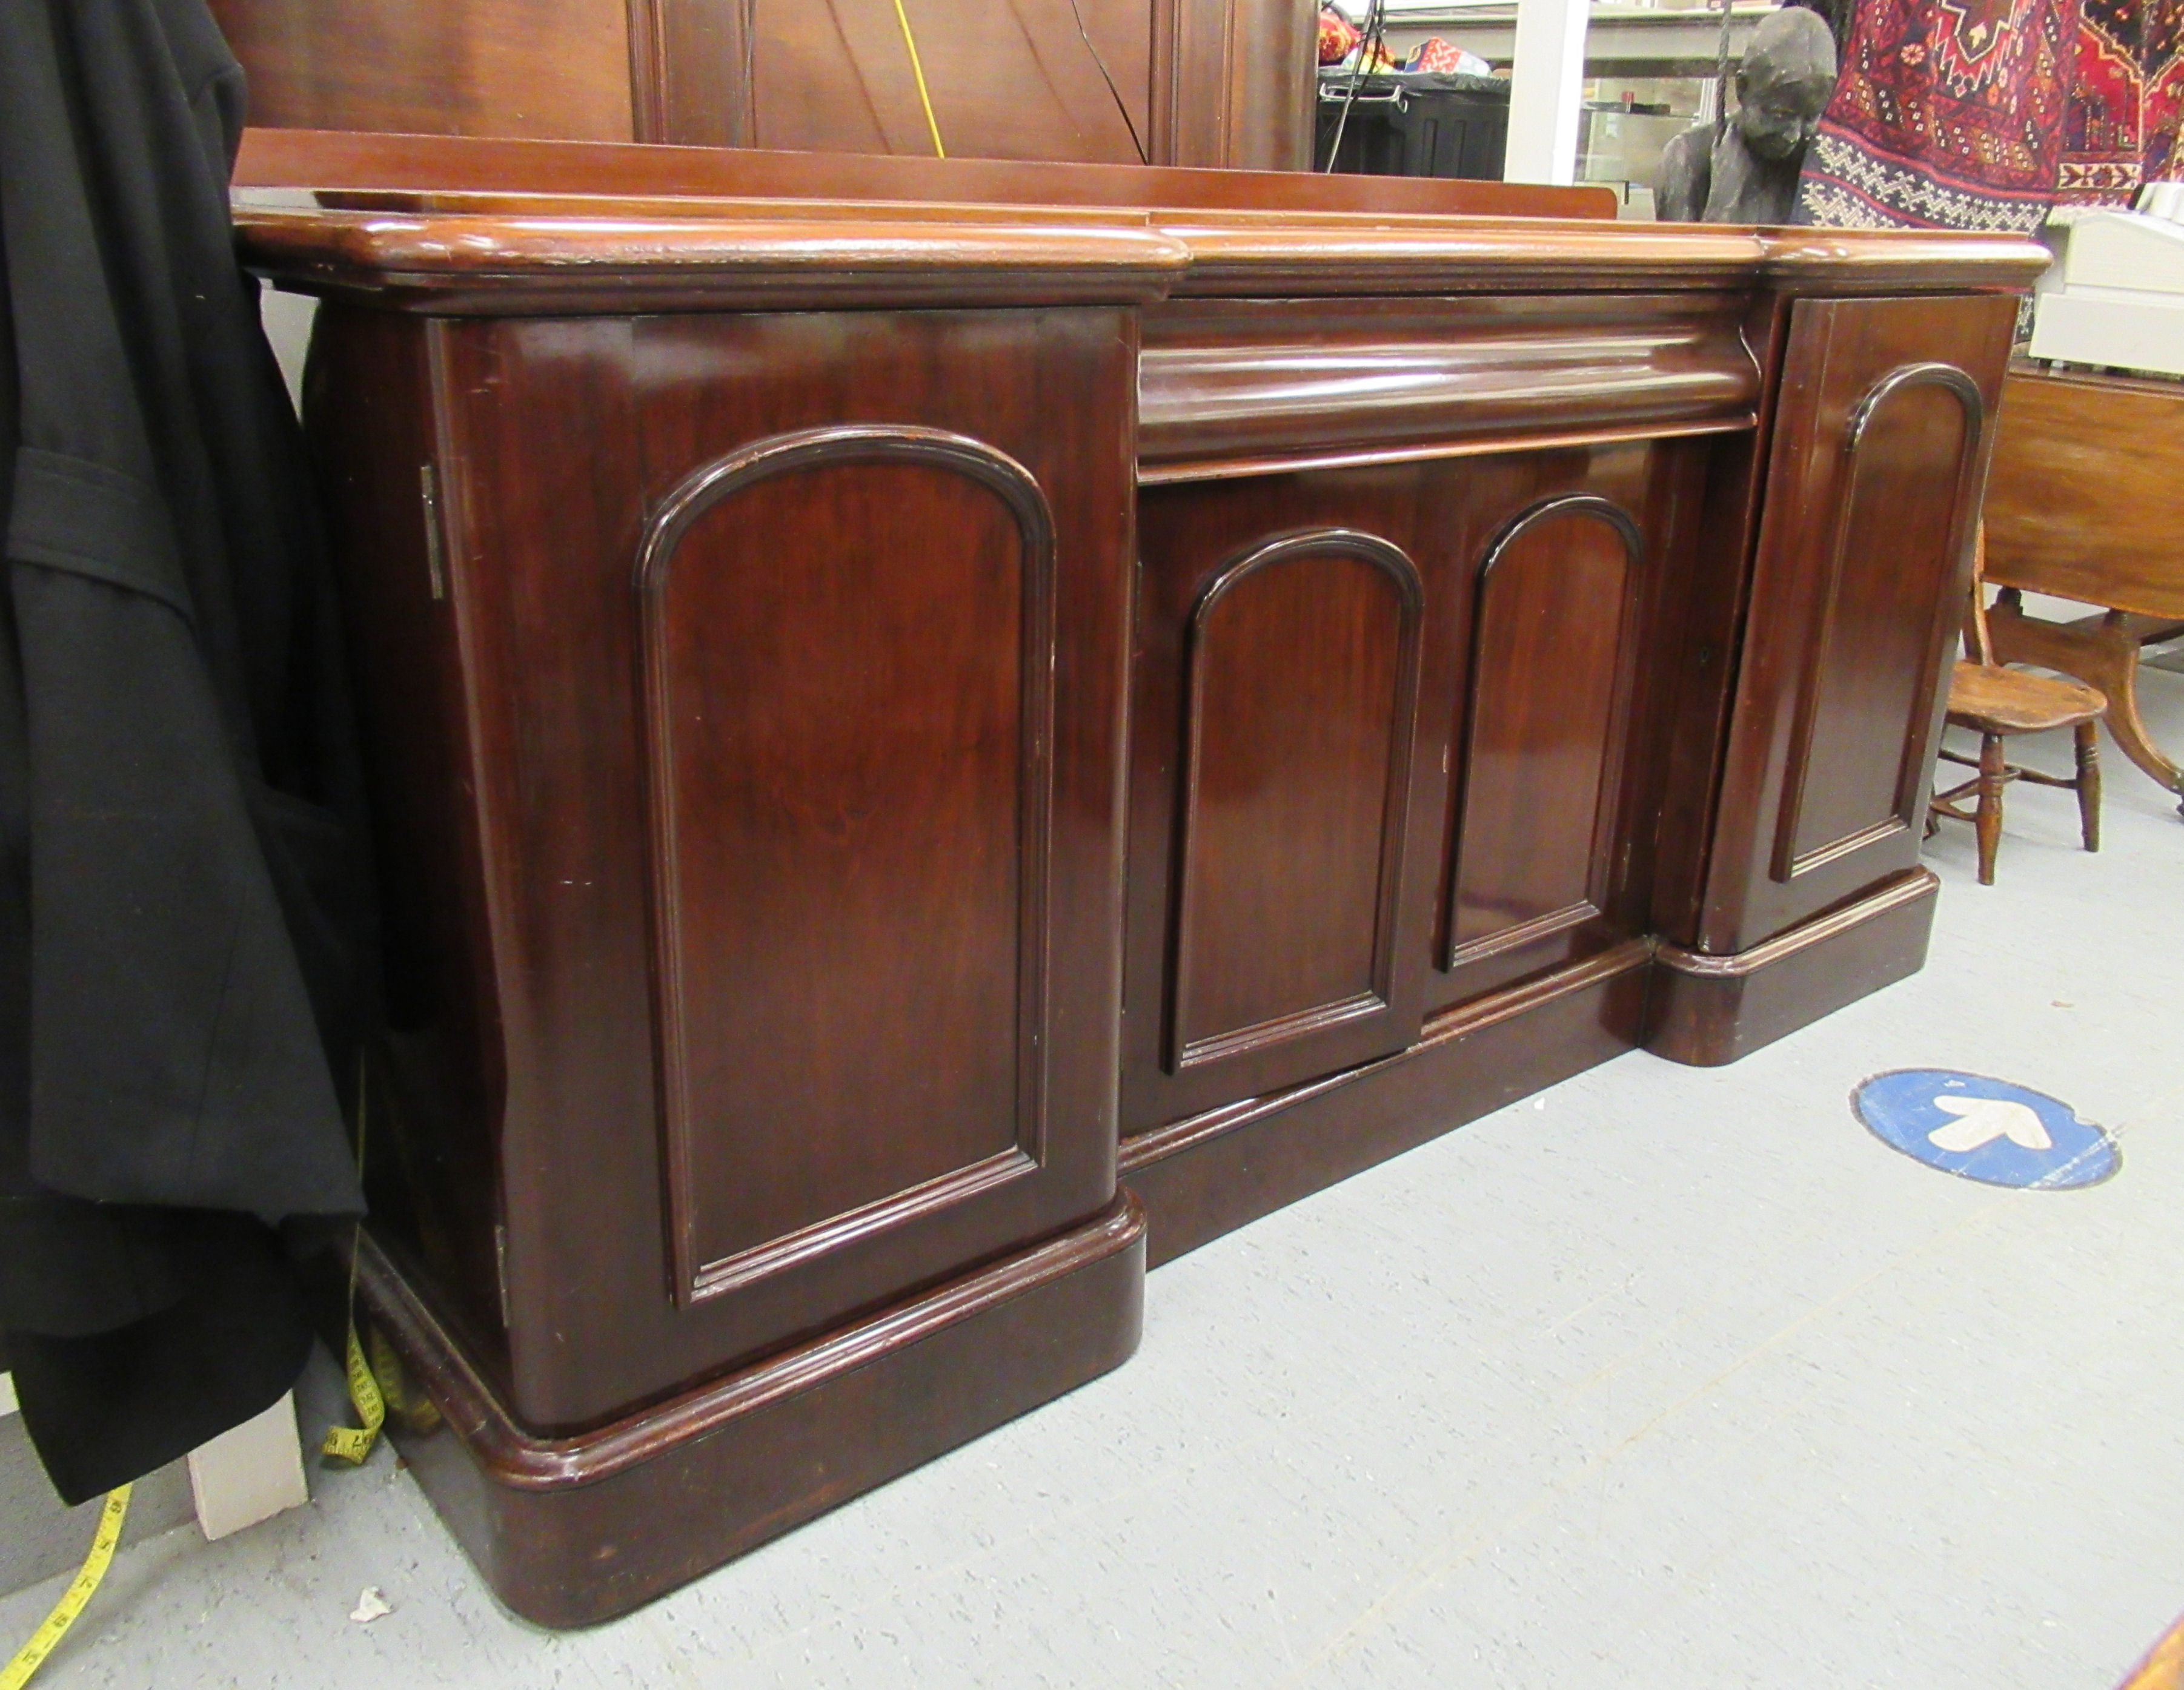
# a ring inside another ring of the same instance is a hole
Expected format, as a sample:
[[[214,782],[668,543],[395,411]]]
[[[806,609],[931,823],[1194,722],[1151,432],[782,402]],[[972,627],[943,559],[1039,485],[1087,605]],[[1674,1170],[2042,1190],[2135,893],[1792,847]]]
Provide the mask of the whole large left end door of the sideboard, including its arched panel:
[[[502,535],[454,550],[518,771],[489,808],[537,1076],[505,1135],[526,1421],[1112,1201],[1133,349],[1094,308],[450,347],[459,517]]]

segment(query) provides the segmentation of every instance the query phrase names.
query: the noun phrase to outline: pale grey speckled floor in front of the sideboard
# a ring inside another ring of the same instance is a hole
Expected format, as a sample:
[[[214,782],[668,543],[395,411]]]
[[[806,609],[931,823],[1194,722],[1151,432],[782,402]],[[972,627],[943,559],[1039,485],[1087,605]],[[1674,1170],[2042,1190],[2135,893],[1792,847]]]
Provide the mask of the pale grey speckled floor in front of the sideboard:
[[[1164,1266],[1118,1373],[622,1622],[511,1620],[380,1454],[124,1550],[41,1686],[2108,1690],[2184,1609],[2184,821],[2112,758],[2108,849],[2073,823],[2014,790],[1994,889],[1933,841],[1915,980]],[[1909,1066],[2070,1100],[2121,1175],[1898,1155],[1848,1092]]]

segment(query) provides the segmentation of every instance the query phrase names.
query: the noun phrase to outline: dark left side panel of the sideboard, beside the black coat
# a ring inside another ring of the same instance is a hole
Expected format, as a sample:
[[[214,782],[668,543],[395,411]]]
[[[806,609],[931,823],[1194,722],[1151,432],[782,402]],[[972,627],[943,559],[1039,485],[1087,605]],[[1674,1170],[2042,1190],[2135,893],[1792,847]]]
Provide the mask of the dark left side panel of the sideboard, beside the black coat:
[[[321,306],[304,415],[341,576],[380,878],[384,1022],[365,1083],[371,1227],[498,1360],[505,1066],[446,592],[452,469],[435,430],[430,334],[419,319]]]

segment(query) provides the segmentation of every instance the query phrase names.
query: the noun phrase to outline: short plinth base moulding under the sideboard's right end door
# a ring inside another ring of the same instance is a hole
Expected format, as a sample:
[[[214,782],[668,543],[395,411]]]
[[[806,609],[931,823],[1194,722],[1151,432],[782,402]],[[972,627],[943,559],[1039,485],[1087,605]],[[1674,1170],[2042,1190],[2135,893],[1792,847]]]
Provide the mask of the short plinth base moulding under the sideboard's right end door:
[[[1647,1050],[1719,1068],[1918,974],[1939,889],[1915,869],[1734,956],[1660,945]]]

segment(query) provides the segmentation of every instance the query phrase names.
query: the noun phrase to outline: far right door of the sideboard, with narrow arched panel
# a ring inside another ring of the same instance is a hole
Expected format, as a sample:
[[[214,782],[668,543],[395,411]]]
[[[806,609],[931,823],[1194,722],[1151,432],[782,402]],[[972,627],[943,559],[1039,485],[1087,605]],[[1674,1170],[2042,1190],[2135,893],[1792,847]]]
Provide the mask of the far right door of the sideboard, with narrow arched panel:
[[[1918,867],[2016,299],[1802,299],[1701,950]]]

